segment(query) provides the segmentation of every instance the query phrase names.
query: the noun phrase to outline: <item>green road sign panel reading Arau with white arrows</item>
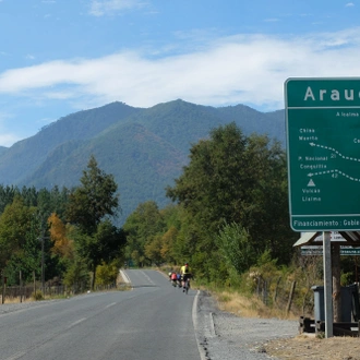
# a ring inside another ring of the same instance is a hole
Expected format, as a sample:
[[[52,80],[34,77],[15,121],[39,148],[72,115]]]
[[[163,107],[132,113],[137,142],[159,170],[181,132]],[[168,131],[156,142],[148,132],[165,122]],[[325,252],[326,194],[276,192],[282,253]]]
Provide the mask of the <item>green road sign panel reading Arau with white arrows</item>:
[[[360,77],[285,83],[290,226],[360,229]]]

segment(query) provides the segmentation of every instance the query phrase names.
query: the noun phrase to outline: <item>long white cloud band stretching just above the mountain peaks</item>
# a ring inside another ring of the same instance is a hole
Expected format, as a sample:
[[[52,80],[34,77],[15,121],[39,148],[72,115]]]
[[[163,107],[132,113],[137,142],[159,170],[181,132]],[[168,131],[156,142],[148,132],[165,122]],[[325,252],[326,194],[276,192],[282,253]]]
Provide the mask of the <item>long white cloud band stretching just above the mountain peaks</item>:
[[[288,77],[359,75],[359,28],[287,38],[239,35],[156,59],[152,51],[123,51],[13,69],[0,74],[0,93],[68,99],[83,109],[113,100],[149,107],[182,98],[275,110],[284,108]]]

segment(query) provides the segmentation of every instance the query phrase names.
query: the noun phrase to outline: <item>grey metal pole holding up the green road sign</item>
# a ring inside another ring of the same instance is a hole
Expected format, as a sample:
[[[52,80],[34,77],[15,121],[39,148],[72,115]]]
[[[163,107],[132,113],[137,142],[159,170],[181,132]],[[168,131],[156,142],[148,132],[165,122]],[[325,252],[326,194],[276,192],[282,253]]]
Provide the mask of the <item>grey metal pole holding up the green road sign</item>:
[[[333,281],[331,232],[323,232],[325,337],[333,337]]]

